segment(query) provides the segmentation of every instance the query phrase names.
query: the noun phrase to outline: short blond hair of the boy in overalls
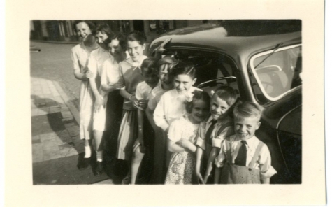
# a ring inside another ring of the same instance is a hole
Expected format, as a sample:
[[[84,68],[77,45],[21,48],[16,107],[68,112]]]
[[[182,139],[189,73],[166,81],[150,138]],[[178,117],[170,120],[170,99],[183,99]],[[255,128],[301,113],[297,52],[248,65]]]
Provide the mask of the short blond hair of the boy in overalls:
[[[238,117],[257,117],[261,119],[261,108],[256,103],[240,103],[233,110],[234,119]]]

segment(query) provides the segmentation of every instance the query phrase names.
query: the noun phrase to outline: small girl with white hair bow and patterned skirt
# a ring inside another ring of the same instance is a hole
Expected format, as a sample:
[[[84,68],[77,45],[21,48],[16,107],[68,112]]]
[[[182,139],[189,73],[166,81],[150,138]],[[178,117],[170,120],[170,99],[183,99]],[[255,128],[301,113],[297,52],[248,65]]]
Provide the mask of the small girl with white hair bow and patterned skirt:
[[[210,96],[194,91],[186,95],[187,113],[172,122],[168,130],[168,150],[173,152],[166,175],[166,184],[193,184],[196,140],[199,123],[208,115]]]

